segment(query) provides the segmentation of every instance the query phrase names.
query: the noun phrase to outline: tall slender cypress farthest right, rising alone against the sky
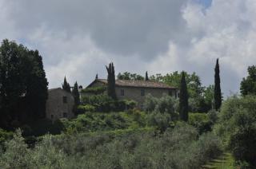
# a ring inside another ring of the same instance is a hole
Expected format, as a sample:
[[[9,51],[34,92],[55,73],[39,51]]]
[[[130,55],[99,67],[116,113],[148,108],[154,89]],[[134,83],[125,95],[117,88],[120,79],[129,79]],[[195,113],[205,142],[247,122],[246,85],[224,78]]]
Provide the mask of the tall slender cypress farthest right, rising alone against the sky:
[[[216,61],[214,71],[215,71],[215,75],[214,75],[214,107],[216,110],[219,110],[219,108],[222,105],[222,91],[221,91],[221,80],[219,77],[218,59]]]

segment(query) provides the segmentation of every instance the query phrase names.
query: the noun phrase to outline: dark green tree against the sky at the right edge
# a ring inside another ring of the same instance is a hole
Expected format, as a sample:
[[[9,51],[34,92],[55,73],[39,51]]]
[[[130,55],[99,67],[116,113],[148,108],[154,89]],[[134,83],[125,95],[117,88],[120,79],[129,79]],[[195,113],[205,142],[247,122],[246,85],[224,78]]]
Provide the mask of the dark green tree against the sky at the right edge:
[[[240,91],[243,96],[256,94],[256,66],[249,66],[247,70],[249,76],[242,79],[240,86]]]

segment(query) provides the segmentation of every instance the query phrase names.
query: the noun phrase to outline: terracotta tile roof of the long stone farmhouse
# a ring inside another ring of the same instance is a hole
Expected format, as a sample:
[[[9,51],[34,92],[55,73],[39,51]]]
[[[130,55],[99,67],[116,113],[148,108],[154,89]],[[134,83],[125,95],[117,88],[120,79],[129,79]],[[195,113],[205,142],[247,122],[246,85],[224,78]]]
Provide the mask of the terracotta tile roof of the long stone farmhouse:
[[[95,81],[102,82],[104,84],[107,83],[106,79],[97,79]],[[170,85],[166,85],[164,83],[158,81],[134,81],[134,80],[116,80],[116,86],[125,86],[125,87],[143,87],[143,88],[174,88]]]

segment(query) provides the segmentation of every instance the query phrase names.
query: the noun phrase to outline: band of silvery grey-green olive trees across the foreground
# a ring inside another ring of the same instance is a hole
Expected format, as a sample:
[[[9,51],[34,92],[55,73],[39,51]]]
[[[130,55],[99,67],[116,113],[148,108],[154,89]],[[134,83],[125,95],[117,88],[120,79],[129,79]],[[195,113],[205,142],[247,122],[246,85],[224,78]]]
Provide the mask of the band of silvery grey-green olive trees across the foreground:
[[[0,154],[4,168],[200,168],[221,151],[216,136],[198,138],[195,128],[178,124],[159,134],[133,130],[118,135],[46,135],[28,148],[20,132]]]

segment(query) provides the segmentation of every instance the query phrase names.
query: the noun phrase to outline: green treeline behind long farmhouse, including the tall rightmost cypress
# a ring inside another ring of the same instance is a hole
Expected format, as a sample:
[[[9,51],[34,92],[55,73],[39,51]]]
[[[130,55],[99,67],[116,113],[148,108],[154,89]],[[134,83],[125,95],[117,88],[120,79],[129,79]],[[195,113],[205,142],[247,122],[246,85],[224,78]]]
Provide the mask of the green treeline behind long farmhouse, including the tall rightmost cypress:
[[[214,67],[214,66],[213,66]],[[166,75],[156,74],[148,77],[146,72],[145,77],[137,73],[118,73],[118,80],[134,80],[134,81],[159,81],[166,85],[175,88],[182,87],[182,73],[185,77],[188,97],[188,111],[189,112],[209,112],[210,109],[219,109],[222,103],[222,92],[219,77],[219,64],[216,61],[214,69],[214,85],[203,86],[201,78],[196,73],[187,73],[186,71],[174,73],[167,73]],[[184,82],[184,79],[183,79]],[[216,105],[216,106],[215,106]]]

